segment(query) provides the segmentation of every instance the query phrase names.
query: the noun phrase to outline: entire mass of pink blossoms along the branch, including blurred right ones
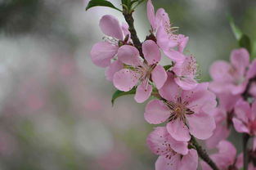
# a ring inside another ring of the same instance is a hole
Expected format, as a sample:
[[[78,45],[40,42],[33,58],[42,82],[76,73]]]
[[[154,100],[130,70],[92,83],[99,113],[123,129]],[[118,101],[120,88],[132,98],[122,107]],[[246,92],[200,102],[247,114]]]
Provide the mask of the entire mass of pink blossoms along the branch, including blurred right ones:
[[[193,139],[206,141],[209,149],[218,148],[210,156],[218,168],[241,168],[242,154],[236,156],[236,148],[226,139],[233,125],[237,132],[256,134],[256,102],[245,96],[245,91],[256,96],[256,83],[251,81],[256,61],[249,65],[248,51],[234,50],[231,63],[216,61],[211,66],[211,83],[200,83],[195,57],[184,50],[189,38],[177,34],[163,8],[155,12],[151,0],[146,7],[151,28],[141,47],[133,43],[128,24],[106,15],[100,20],[106,37],[92,47],[91,58],[106,68],[106,79],[120,92],[134,91],[137,103],[150,99],[144,117],[159,125],[146,139],[150,150],[159,155],[155,169],[197,169],[199,153]],[[168,58],[169,65],[160,65],[162,57]],[[212,169],[203,161],[200,164],[204,170]]]

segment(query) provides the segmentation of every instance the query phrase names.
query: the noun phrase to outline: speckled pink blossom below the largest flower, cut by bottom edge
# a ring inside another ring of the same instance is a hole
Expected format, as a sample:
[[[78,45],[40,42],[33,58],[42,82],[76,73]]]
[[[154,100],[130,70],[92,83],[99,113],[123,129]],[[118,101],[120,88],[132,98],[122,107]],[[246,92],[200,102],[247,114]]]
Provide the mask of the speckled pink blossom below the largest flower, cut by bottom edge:
[[[150,150],[159,155],[155,170],[195,170],[198,164],[196,150],[188,150],[187,142],[176,141],[164,127],[155,128],[147,137]]]

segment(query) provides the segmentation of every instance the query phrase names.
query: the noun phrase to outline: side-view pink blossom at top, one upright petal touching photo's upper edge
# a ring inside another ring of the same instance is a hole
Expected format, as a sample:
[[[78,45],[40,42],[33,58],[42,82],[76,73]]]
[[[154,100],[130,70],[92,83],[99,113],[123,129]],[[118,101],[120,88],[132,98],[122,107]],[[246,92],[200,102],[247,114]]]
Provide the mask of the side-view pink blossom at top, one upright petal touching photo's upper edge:
[[[147,2],[147,17],[150,21],[151,32],[155,34],[157,44],[164,51],[165,55],[174,61],[183,60],[182,52],[188,42],[188,37],[182,34],[174,34],[177,28],[172,27],[168,14],[163,8],[159,8],[155,13],[155,8],[151,2]],[[173,48],[178,47],[178,51],[174,51]]]

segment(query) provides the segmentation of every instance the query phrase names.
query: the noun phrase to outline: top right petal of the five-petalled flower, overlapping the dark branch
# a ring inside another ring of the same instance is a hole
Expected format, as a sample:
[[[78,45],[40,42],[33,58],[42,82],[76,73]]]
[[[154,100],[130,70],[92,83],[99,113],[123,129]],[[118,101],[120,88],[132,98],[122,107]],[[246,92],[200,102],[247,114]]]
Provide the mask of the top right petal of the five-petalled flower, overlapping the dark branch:
[[[159,47],[152,40],[146,40],[146,42],[142,43],[142,51],[149,65],[158,63],[161,60]]]

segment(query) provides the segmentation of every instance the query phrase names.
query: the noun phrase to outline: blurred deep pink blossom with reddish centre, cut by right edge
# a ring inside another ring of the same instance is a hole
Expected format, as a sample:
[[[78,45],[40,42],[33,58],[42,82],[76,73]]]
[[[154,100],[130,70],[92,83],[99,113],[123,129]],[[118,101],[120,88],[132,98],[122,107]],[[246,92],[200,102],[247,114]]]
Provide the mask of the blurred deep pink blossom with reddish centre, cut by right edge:
[[[237,132],[248,133],[254,136],[254,150],[256,149],[256,101],[250,107],[249,103],[237,101],[235,106],[236,117],[232,119]]]

